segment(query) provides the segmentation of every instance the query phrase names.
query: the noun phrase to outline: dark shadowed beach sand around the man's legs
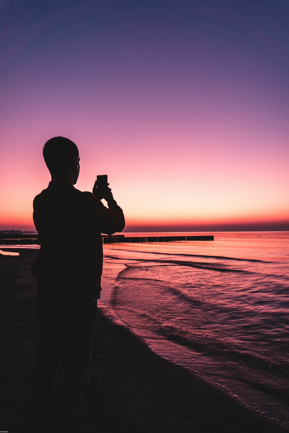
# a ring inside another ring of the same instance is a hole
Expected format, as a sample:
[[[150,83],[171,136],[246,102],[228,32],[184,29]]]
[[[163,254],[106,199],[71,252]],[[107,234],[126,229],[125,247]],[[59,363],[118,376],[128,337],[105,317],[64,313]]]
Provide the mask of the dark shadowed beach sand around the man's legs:
[[[0,430],[27,427],[37,355],[36,283],[30,266],[37,251],[0,255]],[[75,433],[278,433],[281,427],[228,397],[187,369],[156,354],[99,308],[88,383]],[[40,432],[39,432],[40,433]]]

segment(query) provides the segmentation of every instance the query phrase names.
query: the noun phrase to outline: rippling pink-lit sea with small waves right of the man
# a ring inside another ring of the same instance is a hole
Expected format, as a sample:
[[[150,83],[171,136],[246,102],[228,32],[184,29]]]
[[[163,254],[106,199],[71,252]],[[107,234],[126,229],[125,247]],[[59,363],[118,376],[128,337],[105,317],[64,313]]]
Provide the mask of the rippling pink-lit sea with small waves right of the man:
[[[101,302],[163,358],[289,430],[289,232],[104,245]]]

